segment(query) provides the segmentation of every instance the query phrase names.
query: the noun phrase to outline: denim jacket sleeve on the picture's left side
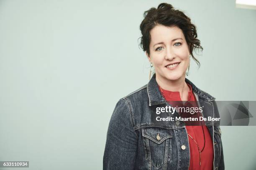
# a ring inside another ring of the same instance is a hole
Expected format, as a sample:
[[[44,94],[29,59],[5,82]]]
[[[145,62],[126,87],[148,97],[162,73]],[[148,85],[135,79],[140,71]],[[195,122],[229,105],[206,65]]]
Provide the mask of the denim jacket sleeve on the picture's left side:
[[[138,137],[133,130],[127,101],[120,99],[108,125],[103,170],[133,170]]]

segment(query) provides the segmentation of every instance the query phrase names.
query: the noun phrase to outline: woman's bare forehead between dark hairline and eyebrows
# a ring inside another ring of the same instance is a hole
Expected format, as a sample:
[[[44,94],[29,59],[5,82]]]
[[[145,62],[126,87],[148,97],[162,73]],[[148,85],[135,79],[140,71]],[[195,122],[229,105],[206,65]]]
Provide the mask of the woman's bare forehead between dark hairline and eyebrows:
[[[151,42],[166,41],[169,42],[175,38],[183,38],[182,30],[177,26],[166,27],[164,25],[156,25],[151,31]]]

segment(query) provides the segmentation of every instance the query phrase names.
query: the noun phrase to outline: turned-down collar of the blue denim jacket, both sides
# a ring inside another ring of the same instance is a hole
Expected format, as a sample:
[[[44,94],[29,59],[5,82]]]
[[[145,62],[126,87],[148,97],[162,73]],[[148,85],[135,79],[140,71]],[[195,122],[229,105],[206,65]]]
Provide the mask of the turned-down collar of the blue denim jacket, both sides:
[[[204,91],[200,90],[199,88],[197,88],[187,78],[185,78],[185,82],[189,83],[189,85],[191,85],[191,87],[192,87],[192,91],[195,92],[200,97],[205,98],[206,100],[215,100],[215,97],[212,97],[207,92],[204,92]],[[156,74],[154,74],[152,76],[152,78],[149,80],[149,82],[147,84],[147,91],[148,91],[149,106],[159,105],[159,104],[166,102],[164,97],[161,95],[158,84],[156,82]]]

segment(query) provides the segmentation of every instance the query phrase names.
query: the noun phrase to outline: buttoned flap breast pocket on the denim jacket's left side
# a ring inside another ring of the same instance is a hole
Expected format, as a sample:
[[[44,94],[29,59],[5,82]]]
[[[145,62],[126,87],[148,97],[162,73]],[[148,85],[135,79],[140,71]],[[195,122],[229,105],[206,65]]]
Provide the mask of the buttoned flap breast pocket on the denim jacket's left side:
[[[152,169],[166,169],[172,155],[172,132],[169,129],[142,128],[146,160]]]

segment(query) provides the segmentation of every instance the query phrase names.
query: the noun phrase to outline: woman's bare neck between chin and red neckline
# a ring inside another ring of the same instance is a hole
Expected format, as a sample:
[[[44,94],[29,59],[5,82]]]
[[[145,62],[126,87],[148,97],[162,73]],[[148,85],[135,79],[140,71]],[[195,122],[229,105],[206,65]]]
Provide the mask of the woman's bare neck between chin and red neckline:
[[[179,92],[183,101],[187,100],[189,87],[185,82],[185,75],[177,80],[168,80],[164,77],[156,75],[157,84],[164,90]]]

